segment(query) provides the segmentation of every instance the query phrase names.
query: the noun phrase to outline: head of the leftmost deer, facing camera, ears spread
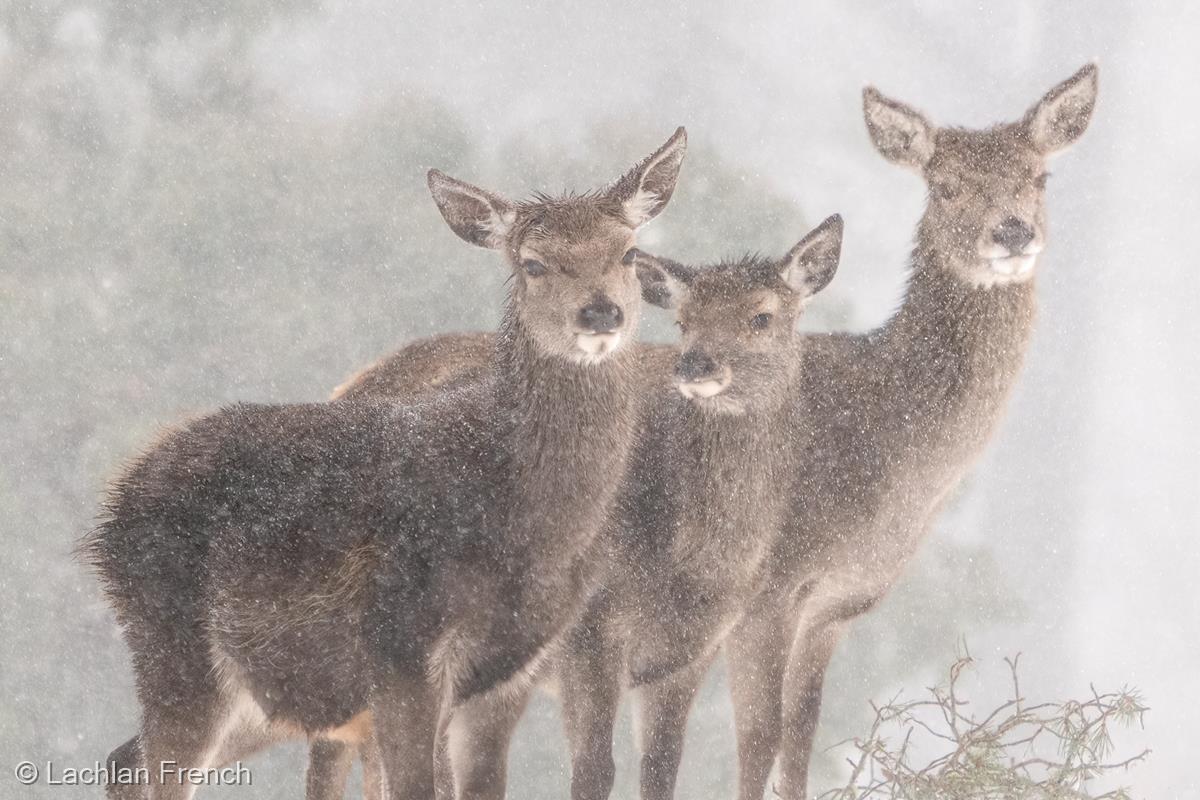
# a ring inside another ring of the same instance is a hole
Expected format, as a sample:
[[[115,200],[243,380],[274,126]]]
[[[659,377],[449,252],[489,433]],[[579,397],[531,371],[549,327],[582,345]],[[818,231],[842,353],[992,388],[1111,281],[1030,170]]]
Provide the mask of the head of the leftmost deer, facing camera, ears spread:
[[[438,170],[430,172],[430,191],[460,237],[505,254],[514,309],[535,344],[594,363],[636,330],[635,233],[666,207],[686,143],[677,130],[611,187],[589,194],[514,203]]]

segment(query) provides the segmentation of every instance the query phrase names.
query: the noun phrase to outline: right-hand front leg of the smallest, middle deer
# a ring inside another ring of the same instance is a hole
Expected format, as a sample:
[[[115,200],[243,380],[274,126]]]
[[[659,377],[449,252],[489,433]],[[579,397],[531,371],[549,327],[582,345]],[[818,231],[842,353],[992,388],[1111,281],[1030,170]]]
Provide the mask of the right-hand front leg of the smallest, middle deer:
[[[671,800],[674,795],[688,712],[712,661],[712,656],[701,658],[640,690],[637,729],[642,742],[642,800]]]

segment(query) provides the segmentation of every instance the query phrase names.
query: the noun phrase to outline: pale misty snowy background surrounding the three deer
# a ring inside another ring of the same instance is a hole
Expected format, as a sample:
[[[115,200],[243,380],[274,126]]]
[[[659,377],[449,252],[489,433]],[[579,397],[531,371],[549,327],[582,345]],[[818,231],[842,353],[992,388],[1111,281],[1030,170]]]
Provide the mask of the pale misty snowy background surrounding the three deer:
[[[865,330],[899,302],[924,196],[871,148],[860,89],[982,126],[1092,59],[1009,414],[834,660],[812,784],[836,782],[829,747],[865,732],[868,700],[944,681],[965,638],[984,693],[1018,651],[1033,699],[1140,687],[1152,710],[1126,739],[1154,752],[1123,782],[1195,794],[1196,30],[1182,1],[0,2],[0,796],[94,796],[12,766],[90,765],[137,729],[127,650],[70,554],[124,459],[188,415],[324,399],[414,337],[494,325],[502,260],[445,227],[428,168],[516,198],[587,190],[686,125],[641,246],[780,254],[841,212],[805,326]],[[614,796],[632,798],[619,733]],[[200,795],[298,796],[304,763],[280,747],[253,787]],[[716,668],[679,794],[732,796],[734,775]],[[565,796],[566,776],[540,697],[510,795]]]

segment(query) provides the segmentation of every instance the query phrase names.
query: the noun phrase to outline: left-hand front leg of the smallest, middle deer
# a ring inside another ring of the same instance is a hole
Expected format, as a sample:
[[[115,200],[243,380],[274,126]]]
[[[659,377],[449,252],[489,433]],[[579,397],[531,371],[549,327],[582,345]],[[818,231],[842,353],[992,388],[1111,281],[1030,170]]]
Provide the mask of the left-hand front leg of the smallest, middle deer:
[[[612,792],[620,673],[619,652],[596,628],[572,632],[558,668],[571,747],[571,800],[605,800]]]

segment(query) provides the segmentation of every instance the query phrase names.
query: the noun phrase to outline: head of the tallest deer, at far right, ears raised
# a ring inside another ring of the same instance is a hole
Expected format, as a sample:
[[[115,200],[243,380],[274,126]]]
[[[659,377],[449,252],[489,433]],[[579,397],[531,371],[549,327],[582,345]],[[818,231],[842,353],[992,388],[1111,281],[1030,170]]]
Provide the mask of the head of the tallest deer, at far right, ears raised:
[[[982,287],[1027,281],[1045,247],[1050,156],[1074,143],[1096,107],[1097,67],[1051,89],[1018,122],[971,131],[863,92],[866,130],[888,160],[918,170],[929,205],[918,245]]]

